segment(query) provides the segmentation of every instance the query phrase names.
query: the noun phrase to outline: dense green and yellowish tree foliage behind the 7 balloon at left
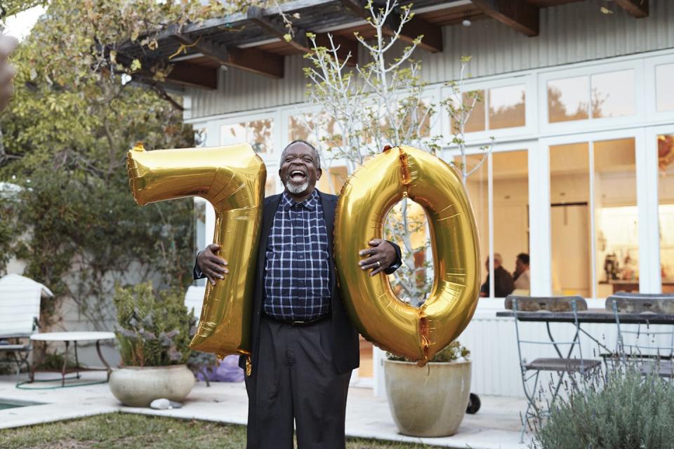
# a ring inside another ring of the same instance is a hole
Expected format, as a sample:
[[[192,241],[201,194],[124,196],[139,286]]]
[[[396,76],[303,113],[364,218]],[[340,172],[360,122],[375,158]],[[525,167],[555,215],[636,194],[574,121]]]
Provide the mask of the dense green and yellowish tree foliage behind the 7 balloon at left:
[[[98,327],[111,317],[115,282],[189,280],[191,199],[136,206],[125,156],[137,140],[150,149],[193,146],[193,130],[179,100],[124,83],[130,69],[111,61],[110,48],[152,46],[161,24],[222,13],[209,7],[53,0],[15,51],[15,98],[0,119],[0,182],[22,190],[0,192],[0,273],[12,255],[25,262],[25,275],[57,297],[44,311],[70,297]]]

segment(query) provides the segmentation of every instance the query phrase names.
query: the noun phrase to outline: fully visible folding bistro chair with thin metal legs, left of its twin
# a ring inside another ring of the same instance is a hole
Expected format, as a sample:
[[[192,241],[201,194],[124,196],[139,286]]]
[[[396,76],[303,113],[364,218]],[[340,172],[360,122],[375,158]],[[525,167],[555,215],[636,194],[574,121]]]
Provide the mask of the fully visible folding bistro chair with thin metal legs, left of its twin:
[[[527,396],[527,410],[522,417],[522,431],[520,433],[520,442],[523,442],[524,432],[527,430],[529,419],[536,419],[541,423],[543,417],[550,414],[550,408],[552,408],[555,400],[559,396],[564,375],[568,375],[569,379],[571,379],[572,382],[575,382],[571,375],[577,373],[580,374],[582,376],[581,378],[584,380],[584,377],[590,371],[600,368],[602,362],[590,358],[583,358],[578,311],[587,310],[588,305],[582,297],[531,297],[510,295],[505,298],[505,308],[513,310],[515,318],[515,335],[517,335],[517,355],[520,358],[520,370],[522,374],[522,387],[524,387],[524,395]],[[573,314],[573,323],[576,327],[574,337],[568,341],[555,341],[553,333],[550,330],[550,321],[544,319],[542,314],[569,311]],[[548,341],[522,339],[519,325],[520,320],[518,319],[522,312],[541,313],[541,321],[545,321],[546,323]],[[534,360],[527,362],[524,356],[522,356],[523,344],[552,346],[557,353],[557,357],[534,358]],[[568,351],[562,352],[564,347],[568,347]],[[577,353],[577,357],[574,357],[574,352]],[[557,373],[559,375],[547,409],[542,408],[541,404],[537,403],[535,396],[536,388],[538,388],[538,381],[540,380],[540,375],[543,371]]]

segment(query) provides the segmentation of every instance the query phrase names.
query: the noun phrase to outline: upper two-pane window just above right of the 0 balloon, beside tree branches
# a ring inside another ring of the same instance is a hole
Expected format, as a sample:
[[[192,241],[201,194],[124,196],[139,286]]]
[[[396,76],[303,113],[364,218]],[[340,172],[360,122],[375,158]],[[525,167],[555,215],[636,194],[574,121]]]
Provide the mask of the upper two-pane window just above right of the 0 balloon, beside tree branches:
[[[524,85],[491,88],[477,91],[475,107],[465,123],[465,132],[516,128],[525,126],[525,93]],[[472,105],[473,99],[463,93],[463,102]],[[452,123],[454,129],[454,123]]]

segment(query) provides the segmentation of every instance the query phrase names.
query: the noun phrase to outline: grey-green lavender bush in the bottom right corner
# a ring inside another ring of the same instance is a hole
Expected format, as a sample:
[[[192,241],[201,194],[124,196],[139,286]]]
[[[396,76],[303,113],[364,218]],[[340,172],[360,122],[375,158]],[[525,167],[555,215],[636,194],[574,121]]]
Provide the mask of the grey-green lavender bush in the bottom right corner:
[[[572,387],[536,429],[540,449],[674,447],[674,384],[635,368]]]

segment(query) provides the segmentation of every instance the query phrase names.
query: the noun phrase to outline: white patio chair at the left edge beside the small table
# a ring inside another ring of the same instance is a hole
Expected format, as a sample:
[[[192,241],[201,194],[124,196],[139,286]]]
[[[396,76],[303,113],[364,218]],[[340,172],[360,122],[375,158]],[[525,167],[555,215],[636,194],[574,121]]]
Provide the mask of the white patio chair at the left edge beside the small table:
[[[29,337],[37,332],[41,299],[53,296],[41,283],[18,274],[0,279],[0,354],[12,357],[0,363],[15,364],[17,376],[22,365],[30,370],[28,358],[32,343]]]

